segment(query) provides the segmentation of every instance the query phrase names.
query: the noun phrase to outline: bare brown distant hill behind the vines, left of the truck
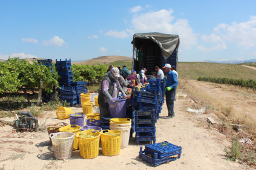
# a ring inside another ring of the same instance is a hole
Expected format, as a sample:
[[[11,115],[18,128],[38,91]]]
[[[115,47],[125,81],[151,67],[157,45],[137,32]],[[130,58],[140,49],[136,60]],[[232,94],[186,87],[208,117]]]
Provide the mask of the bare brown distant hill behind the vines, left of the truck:
[[[117,60],[132,61],[133,58],[126,57],[126,56],[118,56],[118,55],[108,55],[108,56],[97,57],[97,58],[90,59],[90,60],[83,60],[80,62],[72,62],[72,64],[90,64],[90,65],[92,65],[94,63],[110,64]]]

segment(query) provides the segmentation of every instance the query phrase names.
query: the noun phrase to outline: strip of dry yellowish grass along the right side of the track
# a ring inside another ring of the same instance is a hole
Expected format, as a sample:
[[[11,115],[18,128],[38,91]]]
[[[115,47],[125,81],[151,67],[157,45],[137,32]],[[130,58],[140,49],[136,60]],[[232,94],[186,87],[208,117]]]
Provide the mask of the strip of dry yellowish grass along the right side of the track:
[[[186,94],[197,101],[201,106],[206,106],[208,109],[212,110],[216,116],[218,116],[222,121],[229,123],[235,123],[243,125],[243,130],[256,137],[256,120],[254,115],[245,114],[237,111],[233,107],[232,101],[225,98],[218,98],[206,91],[202,90],[201,87],[193,84],[193,81],[188,79],[179,79],[179,88],[183,89]],[[224,92],[223,92],[223,95]],[[241,96],[243,94],[240,94]]]

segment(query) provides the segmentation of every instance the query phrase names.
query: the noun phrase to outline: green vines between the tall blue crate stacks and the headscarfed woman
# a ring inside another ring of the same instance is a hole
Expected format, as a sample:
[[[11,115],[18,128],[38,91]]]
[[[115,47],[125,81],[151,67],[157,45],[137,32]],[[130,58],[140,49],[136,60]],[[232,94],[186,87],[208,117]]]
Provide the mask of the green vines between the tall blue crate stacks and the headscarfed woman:
[[[105,76],[107,68],[108,66],[104,64],[72,64],[74,81],[92,82],[101,80]]]

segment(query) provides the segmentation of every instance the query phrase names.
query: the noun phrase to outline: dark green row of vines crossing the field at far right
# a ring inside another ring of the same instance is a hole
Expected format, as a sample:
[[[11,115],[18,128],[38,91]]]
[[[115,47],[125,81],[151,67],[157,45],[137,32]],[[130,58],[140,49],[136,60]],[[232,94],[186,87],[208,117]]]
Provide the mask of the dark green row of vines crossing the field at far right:
[[[253,81],[252,79],[245,80],[245,79],[198,77],[197,81],[209,81],[209,82],[216,82],[219,84],[231,84],[231,85],[235,85],[235,86],[243,86],[243,87],[247,87],[247,88],[256,89],[256,81]]]

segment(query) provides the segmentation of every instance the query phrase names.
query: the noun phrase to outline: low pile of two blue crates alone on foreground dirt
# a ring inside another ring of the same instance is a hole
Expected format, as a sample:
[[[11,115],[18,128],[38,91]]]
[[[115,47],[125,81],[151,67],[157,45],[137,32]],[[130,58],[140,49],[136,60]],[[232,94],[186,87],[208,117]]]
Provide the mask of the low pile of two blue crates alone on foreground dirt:
[[[158,166],[159,164],[180,159],[181,150],[182,147],[164,141],[158,144],[145,145],[145,150],[143,151],[142,147],[140,147],[139,157],[153,166]]]

